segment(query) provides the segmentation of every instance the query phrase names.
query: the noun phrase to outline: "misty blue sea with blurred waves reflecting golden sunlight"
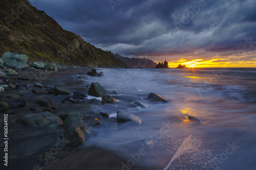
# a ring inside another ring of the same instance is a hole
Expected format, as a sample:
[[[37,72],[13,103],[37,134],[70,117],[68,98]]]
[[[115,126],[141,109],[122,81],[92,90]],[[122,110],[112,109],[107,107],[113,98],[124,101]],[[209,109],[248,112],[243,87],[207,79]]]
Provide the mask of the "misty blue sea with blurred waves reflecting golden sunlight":
[[[125,158],[120,169],[256,168],[256,68],[102,68],[98,82],[117,102],[95,108],[115,117],[123,110],[140,126],[102,124],[87,146]],[[148,100],[157,93],[168,103]],[[89,96],[91,99],[91,96]],[[99,98],[100,100],[100,98]],[[140,102],[145,108],[134,104]]]

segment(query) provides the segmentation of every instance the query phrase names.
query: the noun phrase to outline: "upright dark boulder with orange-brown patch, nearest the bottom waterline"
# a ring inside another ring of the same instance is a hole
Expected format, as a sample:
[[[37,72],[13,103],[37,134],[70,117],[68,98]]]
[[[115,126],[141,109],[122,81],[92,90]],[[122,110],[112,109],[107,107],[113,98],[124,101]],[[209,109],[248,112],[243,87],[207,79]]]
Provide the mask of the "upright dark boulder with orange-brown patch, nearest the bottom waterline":
[[[63,123],[63,128],[65,129],[63,142],[66,145],[75,147],[90,136],[90,132],[82,123],[83,117],[81,113],[73,113],[65,119]]]

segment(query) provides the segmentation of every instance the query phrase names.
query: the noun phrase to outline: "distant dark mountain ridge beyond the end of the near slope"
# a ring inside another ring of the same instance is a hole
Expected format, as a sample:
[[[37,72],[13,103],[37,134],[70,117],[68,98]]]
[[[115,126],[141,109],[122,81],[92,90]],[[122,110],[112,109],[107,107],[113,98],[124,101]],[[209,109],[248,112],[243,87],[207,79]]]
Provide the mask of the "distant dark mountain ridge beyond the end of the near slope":
[[[144,67],[144,68],[155,68],[157,63],[150,59],[146,59],[145,57],[143,59],[140,58],[128,58],[128,57],[122,57],[119,54],[114,54],[116,58],[127,64],[129,67]]]

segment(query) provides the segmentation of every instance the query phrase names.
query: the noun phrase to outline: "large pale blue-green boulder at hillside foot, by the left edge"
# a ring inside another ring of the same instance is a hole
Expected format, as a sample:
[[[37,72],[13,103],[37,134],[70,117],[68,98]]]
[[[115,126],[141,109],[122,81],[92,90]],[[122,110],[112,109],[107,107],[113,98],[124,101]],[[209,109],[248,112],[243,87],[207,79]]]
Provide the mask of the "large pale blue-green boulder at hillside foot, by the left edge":
[[[29,58],[16,52],[4,53],[1,59],[4,61],[4,65],[8,67],[29,67]]]

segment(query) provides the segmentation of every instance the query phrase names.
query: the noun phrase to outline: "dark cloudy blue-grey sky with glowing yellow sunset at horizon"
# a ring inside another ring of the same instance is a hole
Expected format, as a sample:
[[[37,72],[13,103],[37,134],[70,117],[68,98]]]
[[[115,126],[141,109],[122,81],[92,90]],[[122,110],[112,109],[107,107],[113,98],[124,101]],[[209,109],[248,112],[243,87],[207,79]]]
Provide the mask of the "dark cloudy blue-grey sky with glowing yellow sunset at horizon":
[[[30,0],[102,50],[169,67],[256,67],[255,0]]]

